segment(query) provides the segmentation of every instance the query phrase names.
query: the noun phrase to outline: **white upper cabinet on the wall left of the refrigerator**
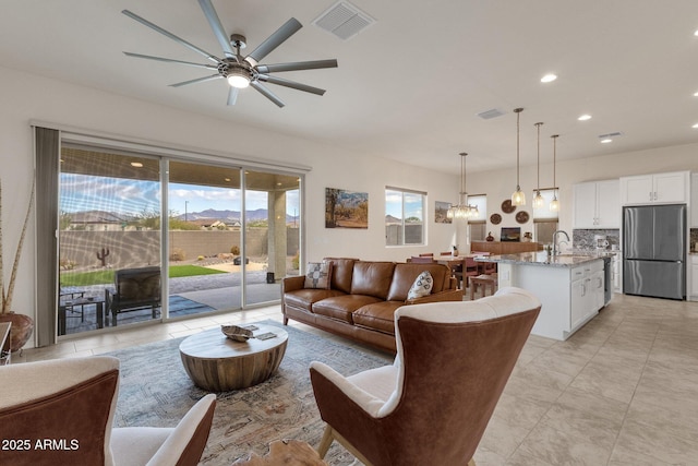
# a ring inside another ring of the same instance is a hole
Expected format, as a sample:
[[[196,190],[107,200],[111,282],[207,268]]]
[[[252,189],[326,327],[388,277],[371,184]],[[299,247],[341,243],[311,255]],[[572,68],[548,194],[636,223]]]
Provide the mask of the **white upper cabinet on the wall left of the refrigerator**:
[[[573,228],[621,228],[619,181],[590,181],[574,186]]]

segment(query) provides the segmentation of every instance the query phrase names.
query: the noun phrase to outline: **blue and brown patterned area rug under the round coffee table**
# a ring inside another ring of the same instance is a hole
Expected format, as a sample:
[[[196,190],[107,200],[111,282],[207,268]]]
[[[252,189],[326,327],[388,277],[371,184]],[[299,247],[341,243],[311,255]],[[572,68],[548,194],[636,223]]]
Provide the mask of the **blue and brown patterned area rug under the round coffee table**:
[[[262,322],[282,326],[278,322]],[[316,447],[324,422],[310,383],[309,366],[317,360],[345,375],[392,363],[393,357],[364,353],[322,336],[284,327],[288,347],[269,380],[250,389],[217,393],[216,414],[202,457],[205,466],[229,466],[250,452],[264,455],[275,440],[296,439]],[[121,360],[121,383],[115,425],[173,427],[208,392],[186,375],[180,356],[182,338],[110,353]],[[326,461],[332,466],[353,463],[336,442]]]

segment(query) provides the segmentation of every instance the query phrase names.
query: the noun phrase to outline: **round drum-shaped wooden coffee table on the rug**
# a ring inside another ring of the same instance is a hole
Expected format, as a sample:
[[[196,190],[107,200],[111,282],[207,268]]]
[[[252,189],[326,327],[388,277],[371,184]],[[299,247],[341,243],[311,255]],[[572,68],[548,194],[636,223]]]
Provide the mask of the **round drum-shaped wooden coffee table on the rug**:
[[[281,363],[288,333],[270,325],[254,324],[254,327],[251,330],[255,336],[268,333],[276,336],[234,342],[220,328],[212,328],[185,338],[179,353],[191,380],[212,392],[245,389],[267,380]]]

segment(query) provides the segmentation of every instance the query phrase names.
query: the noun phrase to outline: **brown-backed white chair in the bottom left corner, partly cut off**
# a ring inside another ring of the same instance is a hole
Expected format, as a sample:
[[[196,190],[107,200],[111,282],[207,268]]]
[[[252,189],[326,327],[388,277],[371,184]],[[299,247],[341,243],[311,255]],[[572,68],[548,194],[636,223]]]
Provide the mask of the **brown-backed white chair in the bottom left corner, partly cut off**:
[[[119,359],[108,356],[0,367],[0,439],[28,442],[0,450],[0,464],[198,464],[215,395],[174,428],[112,428],[118,391]]]

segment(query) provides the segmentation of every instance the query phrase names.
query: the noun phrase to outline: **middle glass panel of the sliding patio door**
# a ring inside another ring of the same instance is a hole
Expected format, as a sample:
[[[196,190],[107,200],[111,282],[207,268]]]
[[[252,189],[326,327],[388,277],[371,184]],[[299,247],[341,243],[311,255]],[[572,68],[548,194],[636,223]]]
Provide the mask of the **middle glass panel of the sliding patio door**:
[[[240,168],[169,162],[169,316],[242,306]]]

